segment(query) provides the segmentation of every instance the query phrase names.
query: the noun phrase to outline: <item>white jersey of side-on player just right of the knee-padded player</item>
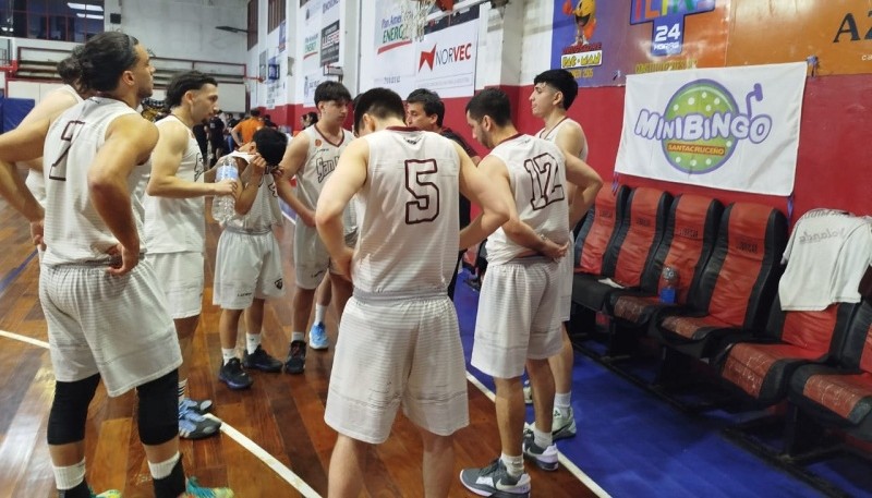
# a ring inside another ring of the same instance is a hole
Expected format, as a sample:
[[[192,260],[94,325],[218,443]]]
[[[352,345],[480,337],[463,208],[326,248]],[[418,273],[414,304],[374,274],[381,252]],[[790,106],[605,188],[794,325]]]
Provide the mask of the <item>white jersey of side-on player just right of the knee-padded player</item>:
[[[160,130],[170,123],[185,126],[172,114],[156,124]],[[187,147],[182,154],[175,177],[186,182],[203,183],[203,154],[193,132],[187,130]],[[205,201],[204,197],[170,198],[145,194],[145,245],[148,252],[203,252],[206,248]]]

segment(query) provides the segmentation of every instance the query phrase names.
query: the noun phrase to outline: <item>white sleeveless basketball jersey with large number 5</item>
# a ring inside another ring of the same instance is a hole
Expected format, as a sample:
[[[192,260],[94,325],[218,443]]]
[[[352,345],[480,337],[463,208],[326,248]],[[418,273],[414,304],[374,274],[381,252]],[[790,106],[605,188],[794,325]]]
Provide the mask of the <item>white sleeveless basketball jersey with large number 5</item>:
[[[455,143],[410,127],[364,138],[370,161],[356,194],[355,293],[444,295],[460,244]]]

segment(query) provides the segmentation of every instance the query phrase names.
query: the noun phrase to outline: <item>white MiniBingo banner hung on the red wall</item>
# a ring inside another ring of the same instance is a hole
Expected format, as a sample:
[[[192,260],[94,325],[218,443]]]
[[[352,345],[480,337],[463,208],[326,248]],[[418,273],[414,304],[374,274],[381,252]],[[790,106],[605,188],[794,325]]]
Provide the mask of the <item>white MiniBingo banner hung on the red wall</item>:
[[[615,172],[787,196],[804,62],[627,76]]]

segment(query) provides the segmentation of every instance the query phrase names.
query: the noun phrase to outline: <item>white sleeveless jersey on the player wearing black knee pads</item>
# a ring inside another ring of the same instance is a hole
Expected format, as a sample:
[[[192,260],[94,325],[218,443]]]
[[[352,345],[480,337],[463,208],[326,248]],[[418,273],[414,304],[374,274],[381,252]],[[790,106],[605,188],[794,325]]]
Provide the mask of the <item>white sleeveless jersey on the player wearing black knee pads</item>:
[[[106,141],[109,124],[121,116],[135,114],[126,104],[111,98],[90,97],[64,111],[49,126],[43,149],[46,180],[46,254],[43,263],[100,262],[118,244],[90,202],[88,170]],[[133,169],[128,177],[133,217],[143,240],[142,197],[150,161]],[[145,250],[142,244],[141,251]]]

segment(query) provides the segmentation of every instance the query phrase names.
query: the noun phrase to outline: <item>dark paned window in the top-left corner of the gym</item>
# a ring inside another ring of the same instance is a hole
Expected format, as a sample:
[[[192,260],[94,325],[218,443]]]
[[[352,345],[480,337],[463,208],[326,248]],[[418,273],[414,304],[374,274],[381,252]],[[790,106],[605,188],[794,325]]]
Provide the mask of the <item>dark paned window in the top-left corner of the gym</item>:
[[[87,41],[104,32],[102,0],[9,0],[0,2],[0,35]]]

